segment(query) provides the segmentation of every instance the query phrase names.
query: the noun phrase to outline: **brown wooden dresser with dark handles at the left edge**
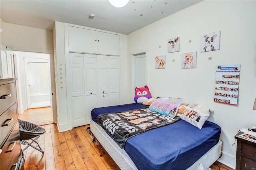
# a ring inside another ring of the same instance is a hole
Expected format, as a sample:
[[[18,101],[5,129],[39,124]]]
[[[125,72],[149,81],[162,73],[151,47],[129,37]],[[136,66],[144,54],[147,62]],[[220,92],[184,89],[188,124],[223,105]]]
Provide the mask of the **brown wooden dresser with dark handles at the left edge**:
[[[0,79],[0,170],[24,170],[15,80]]]

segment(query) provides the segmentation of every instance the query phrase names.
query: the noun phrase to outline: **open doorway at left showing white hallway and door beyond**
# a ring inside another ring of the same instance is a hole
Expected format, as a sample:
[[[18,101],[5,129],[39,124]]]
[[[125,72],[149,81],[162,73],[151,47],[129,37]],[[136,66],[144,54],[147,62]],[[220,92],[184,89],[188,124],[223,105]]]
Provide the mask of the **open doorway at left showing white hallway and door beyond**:
[[[38,116],[46,116],[46,114],[38,113],[48,107],[47,112],[51,113],[51,122],[53,122],[50,54],[21,51],[13,53],[18,78],[16,89],[19,114],[27,114],[28,110],[33,109],[34,114],[30,114],[30,117],[35,116],[35,119],[42,120],[43,118]]]

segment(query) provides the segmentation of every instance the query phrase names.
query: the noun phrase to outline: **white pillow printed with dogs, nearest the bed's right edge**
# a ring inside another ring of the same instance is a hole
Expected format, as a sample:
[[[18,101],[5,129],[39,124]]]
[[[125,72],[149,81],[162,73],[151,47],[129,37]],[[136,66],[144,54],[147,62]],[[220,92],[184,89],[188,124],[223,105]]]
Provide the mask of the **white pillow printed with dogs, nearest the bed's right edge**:
[[[199,109],[192,109],[187,106],[184,112],[181,114],[180,118],[186,122],[202,129],[204,122],[208,119],[210,114],[205,114]]]

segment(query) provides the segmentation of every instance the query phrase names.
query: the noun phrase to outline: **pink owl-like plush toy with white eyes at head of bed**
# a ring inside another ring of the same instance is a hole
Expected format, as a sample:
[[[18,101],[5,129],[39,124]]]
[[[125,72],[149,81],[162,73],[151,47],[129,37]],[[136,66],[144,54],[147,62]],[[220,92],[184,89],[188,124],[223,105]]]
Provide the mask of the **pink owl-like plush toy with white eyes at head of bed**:
[[[148,99],[152,98],[148,86],[144,86],[141,88],[135,88],[135,96],[134,101],[136,103],[142,104],[143,102],[147,102]]]

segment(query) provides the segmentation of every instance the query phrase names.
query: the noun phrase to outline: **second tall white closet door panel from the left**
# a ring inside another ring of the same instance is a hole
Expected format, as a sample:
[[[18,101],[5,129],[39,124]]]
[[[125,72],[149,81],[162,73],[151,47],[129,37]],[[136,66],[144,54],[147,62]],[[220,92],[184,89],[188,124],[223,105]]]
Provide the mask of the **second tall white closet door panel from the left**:
[[[91,110],[98,107],[96,55],[84,54],[84,84],[86,124],[90,124]]]

